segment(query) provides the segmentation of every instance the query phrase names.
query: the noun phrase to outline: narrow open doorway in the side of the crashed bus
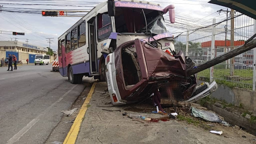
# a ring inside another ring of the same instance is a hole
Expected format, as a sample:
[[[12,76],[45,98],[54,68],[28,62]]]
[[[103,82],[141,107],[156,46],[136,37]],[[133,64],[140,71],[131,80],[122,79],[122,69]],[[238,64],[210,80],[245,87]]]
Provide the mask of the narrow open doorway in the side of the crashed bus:
[[[98,74],[97,64],[97,46],[96,46],[96,34],[95,34],[95,21],[91,24],[88,23],[88,35],[89,35],[89,56],[90,56],[90,73],[91,75]]]

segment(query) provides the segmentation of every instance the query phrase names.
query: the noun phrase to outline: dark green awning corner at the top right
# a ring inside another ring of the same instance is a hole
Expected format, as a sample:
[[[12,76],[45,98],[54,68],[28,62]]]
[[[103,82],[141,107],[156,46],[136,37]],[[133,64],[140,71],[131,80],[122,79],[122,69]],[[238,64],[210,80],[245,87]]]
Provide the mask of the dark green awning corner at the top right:
[[[209,3],[231,8],[256,19],[256,0],[210,0]]]

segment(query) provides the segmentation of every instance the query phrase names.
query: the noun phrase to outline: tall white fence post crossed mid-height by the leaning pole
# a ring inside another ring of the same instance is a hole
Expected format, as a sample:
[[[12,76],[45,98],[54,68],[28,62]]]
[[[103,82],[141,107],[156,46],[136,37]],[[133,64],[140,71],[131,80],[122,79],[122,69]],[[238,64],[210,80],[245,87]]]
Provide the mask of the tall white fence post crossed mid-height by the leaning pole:
[[[212,24],[214,24],[212,26],[212,43],[211,43],[211,59],[214,58],[214,48],[215,48],[215,23],[216,23],[216,19],[213,18],[212,20]],[[213,69],[214,66],[210,67],[210,82],[213,82]]]

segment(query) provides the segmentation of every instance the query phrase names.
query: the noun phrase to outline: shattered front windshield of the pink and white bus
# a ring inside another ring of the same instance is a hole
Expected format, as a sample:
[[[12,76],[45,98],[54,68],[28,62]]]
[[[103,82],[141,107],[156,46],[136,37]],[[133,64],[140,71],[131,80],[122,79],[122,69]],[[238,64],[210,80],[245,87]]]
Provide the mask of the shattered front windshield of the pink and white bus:
[[[116,7],[115,26],[116,32],[121,34],[145,33],[146,29],[152,35],[168,32],[162,12],[150,9]]]

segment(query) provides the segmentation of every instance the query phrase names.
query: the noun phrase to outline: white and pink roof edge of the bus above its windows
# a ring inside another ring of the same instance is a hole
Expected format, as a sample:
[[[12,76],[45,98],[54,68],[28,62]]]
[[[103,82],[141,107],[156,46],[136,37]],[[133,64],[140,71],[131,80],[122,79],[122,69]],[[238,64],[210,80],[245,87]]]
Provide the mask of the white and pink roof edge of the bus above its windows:
[[[150,5],[154,5],[154,6],[158,6],[161,7],[160,4],[156,4],[154,2],[147,2],[147,1],[140,1],[140,0],[118,0],[116,2],[134,2],[134,3],[140,3],[140,4],[150,4]],[[83,22],[87,17],[90,16],[90,14],[92,12],[98,12],[101,9],[107,8],[107,3],[108,1],[102,2],[98,5],[96,5],[94,8],[92,8],[92,10],[90,10],[90,12],[88,12],[85,16],[83,16],[80,20],[78,20],[73,26],[71,26],[71,28],[69,28],[68,30],[66,30],[66,32],[64,32],[60,37],[58,37],[58,40],[60,40],[60,38],[64,38],[64,36],[66,36],[67,32],[70,32],[71,30],[73,30],[78,24],[80,24],[81,22]],[[105,7],[104,7],[105,6]],[[120,6],[122,7],[122,6]],[[130,7],[130,6],[124,6],[124,7]],[[162,11],[162,10],[160,10]]]

